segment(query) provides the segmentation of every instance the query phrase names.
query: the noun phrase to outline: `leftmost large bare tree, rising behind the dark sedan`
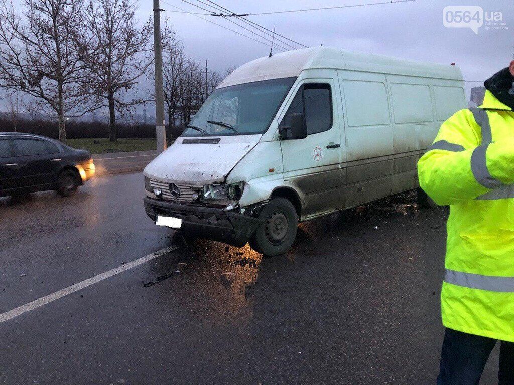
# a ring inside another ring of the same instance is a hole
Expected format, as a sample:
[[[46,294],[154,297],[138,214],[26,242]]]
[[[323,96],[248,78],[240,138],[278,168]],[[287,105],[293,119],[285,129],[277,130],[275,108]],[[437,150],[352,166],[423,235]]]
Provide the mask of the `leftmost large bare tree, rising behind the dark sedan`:
[[[0,2],[0,86],[43,102],[57,115],[65,143],[66,115],[84,106],[82,0],[25,0],[23,20],[6,1]]]

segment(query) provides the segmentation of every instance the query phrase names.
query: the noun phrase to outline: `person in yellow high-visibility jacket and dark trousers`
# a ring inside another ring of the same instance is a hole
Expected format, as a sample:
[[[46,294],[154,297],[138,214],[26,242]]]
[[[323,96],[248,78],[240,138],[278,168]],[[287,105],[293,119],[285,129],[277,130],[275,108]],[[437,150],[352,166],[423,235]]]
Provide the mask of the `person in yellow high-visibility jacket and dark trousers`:
[[[484,85],[418,162],[420,187],[450,205],[438,385],[478,384],[498,340],[499,384],[514,384],[514,61]]]

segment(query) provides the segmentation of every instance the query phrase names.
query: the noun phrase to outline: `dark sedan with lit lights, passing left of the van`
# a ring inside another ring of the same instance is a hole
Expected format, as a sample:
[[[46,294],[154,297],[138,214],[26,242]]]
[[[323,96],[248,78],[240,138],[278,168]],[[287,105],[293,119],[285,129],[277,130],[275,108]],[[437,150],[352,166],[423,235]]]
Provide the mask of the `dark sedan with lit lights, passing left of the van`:
[[[46,190],[68,197],[94,175],[89,151],[37,135],[0,132],[0,197]]]

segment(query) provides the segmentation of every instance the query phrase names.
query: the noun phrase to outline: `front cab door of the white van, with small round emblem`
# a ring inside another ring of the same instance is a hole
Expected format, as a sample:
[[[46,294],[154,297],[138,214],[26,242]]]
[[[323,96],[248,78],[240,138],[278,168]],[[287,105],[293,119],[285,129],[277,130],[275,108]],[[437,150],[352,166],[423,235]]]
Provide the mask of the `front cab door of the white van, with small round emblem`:
[[[292,113],[304,113],[307,138],[281,141],[284,180],[298,186],[304,198],[302,219],[344,206],[341,178],[344,141],[338,88],[331,78],[305,79],[297,85],[279,127],[290,126]]]

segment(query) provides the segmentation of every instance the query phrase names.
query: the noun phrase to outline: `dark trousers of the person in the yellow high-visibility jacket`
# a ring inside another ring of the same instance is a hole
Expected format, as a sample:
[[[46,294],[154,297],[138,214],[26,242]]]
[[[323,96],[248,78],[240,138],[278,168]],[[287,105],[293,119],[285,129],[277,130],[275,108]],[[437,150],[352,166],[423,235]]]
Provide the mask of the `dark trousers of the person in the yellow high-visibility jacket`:
[[[487,359],[497,342],[492,338],[446,329],[437,385],[479,385]],[[514,385],[513,342],[501,341],[498,384]]]

